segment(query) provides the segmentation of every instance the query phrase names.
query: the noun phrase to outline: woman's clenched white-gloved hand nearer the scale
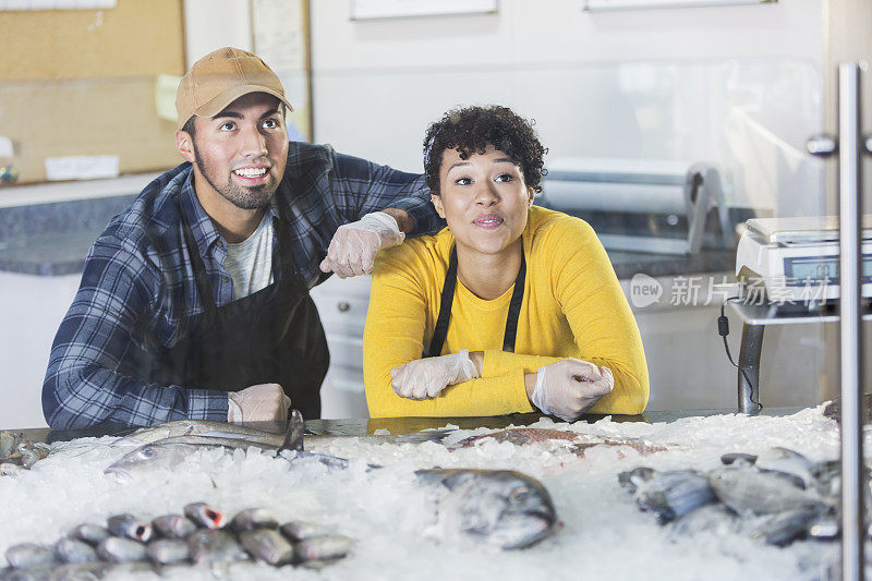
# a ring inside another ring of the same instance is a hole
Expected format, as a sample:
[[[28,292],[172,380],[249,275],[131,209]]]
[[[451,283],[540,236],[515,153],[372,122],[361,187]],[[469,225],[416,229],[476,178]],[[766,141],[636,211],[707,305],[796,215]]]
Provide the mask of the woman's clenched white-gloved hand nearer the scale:
[[[564,359],[540,367],[533,404],[543,413],[574,422],[615,387],[611,370],[580,359]]]

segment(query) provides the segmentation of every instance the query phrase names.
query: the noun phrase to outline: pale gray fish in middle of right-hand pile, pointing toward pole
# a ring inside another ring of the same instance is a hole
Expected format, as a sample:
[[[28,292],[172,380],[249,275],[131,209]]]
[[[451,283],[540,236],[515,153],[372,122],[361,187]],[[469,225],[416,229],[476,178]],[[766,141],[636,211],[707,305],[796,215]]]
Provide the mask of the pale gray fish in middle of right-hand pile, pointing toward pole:
[[[802,489],[775,472],[725,467],[710,472],[707,479],[718,500],[742,517],[826,508],[815,492]]]

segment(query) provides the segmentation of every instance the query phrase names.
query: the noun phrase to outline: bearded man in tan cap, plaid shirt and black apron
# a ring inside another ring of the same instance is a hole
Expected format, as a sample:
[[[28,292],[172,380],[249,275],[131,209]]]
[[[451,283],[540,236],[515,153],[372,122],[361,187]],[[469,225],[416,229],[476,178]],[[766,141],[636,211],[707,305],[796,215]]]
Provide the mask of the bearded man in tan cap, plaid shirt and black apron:
[[[329,354],[308,290],[438,221],[422,177],[289,144],[286,107],[243,50],[182,78],[186,162],[92,247],[43,385],[52,428],[283,420],[291,401],[319,416]]]

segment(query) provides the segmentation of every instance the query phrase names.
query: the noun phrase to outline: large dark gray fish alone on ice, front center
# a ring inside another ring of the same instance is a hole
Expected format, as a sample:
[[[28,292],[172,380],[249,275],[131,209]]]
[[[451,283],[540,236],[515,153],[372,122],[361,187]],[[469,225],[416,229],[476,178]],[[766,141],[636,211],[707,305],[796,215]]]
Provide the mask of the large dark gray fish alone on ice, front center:
[[[436,485],[437,529],[502,549],[535,545],[553,534],[557,513],[537,480],[510,470],[431,469],[415,472]]]

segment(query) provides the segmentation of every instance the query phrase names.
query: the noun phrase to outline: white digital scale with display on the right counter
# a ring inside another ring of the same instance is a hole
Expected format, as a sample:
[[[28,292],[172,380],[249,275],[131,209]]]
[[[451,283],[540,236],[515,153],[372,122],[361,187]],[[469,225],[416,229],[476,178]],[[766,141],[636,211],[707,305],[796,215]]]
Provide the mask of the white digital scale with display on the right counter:
[[[862,220],[860,280],[872,296],[872,215]],[[811,306],[839,296],[838,218],[754,218],[736,250],[742,296],[762,292],[772,303]]]

